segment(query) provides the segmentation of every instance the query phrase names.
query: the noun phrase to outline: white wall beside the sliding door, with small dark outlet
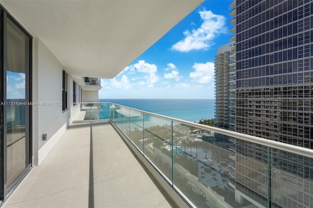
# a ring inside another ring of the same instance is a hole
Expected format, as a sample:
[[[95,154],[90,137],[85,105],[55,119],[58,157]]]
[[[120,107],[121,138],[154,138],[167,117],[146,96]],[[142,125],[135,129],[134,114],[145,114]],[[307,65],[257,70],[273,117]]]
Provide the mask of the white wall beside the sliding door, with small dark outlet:
[[[62,111],[62,64],[39,39],[34,39],[33,62],[33,102],[52,103],[33,106],[33,163],[39,165],[70,123],[73,80],[68,74],[67,110]]]

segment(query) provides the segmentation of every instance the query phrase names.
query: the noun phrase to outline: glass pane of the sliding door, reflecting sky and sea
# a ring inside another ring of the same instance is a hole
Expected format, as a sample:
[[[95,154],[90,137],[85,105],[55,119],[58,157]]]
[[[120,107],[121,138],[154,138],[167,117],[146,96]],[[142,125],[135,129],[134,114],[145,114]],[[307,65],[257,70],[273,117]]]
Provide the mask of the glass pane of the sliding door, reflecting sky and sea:
[[[7,20],[6,138],[8,186],[30,163],[26,157],[29,141],[25,136],[25,75],[29,71],[29,39]]]

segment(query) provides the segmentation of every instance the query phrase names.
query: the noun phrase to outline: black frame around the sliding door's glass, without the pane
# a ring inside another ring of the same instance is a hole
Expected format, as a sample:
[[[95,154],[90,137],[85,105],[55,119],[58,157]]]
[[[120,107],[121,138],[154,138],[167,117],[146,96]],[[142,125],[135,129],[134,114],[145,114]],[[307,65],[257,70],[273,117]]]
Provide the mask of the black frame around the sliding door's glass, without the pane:
[[[25,139],[29,141],[25,146],[25,156],[29,164],[25,164],[22,173],[11,184],[7,184],[7,121],[6,121],[6,71],[7,71],[7,21],[12,21],[28,38],[28,71],[25,72]],[[32,166],[32,39],[33,37],[0,5],[0,200],[4,201],[11,190],[22,181],[22,178]],[[29,146],[28,146],[29,145]]]

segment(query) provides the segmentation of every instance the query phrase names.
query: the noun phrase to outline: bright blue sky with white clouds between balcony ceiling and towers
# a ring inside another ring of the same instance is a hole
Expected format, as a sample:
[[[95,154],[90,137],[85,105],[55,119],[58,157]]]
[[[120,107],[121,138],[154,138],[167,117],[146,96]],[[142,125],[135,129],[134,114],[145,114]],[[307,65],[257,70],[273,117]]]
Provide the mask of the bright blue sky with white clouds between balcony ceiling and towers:
[[[113,79],[102,79],[100,99],[212,99],[214,56],[229,41],[229,5],[205,0]]]

